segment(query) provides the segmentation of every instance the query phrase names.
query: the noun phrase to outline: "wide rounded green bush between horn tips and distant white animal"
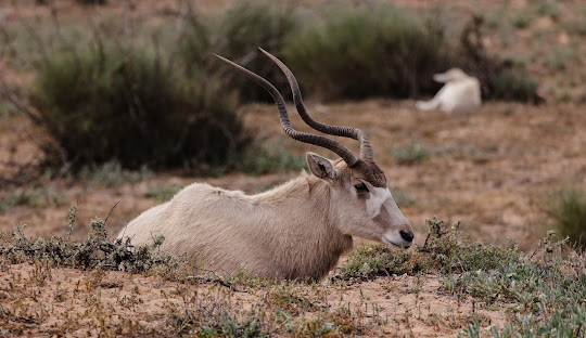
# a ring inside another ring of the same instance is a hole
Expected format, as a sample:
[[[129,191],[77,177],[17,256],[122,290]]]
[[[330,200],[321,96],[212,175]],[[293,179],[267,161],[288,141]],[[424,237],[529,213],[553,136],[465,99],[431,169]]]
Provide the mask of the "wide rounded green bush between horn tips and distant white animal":
[[[327,98],[416,96],[448,68],[440,25],[392,5],[327,6],[291,37],[284,55]]]

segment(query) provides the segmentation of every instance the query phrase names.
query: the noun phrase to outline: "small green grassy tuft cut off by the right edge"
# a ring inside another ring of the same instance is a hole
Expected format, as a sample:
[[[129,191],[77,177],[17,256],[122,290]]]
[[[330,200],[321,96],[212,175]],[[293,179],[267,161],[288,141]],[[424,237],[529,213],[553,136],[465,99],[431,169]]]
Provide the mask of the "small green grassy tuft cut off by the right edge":
[[[562,237],[584,247],[586,240],[586,192],[571,186],[552,197],[546,214]]]

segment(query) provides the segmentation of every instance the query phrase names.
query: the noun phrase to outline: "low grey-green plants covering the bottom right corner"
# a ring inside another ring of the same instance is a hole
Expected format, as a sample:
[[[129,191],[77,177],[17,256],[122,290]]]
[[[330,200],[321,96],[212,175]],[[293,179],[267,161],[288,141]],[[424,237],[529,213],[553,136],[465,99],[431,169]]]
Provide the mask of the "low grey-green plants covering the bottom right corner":
[[[540,246],[540,261],[508,261],[493,270],[469,271],[457,276],[456,291],[486,303],[507,302],[510,321],[480,330],[493,337],[579,337],[586,324],[586,260],[563,246]],[[467,333],[479,332],[467,328]]]

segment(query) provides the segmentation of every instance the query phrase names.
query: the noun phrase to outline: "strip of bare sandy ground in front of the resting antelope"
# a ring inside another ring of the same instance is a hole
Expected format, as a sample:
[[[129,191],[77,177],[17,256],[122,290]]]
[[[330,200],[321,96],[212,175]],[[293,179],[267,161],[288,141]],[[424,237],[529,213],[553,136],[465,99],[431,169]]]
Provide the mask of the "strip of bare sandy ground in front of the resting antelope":
[[[262,307],[264,299],[279,297],[281,288],[233,291],[219,285],[41,264],[9,265],[1,271],[0,309],[9,317],[1,328],[10,333],[7,337],[171,336],[178,332],[171,313],[227,301],[250,311]],[[324,296],[311,302],[307,318],[318,317],[326,308],[349,309],[354,325],[373,337],[454,337],[472,315],[485,326],[501,326],[506,321],[505,307],[481,309],[470,299],[456,299],[434,275],[393,276],[351,286],[322,284],[319,289]],[[316,294],[315,287],[303,286],[289,291],[304,299]],[[283,307],[292,313],[301,311],[300,304]]]

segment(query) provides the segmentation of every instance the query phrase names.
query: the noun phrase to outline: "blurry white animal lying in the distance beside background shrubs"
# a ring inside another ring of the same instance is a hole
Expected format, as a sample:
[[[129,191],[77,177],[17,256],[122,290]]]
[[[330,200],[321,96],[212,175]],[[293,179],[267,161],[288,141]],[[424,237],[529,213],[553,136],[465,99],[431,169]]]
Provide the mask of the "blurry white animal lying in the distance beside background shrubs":
[[[446,83],[430,101],[418,101],[421,110],[468,112],[481,106],[480,82],[459,68],[435,74],[433,79]]]

